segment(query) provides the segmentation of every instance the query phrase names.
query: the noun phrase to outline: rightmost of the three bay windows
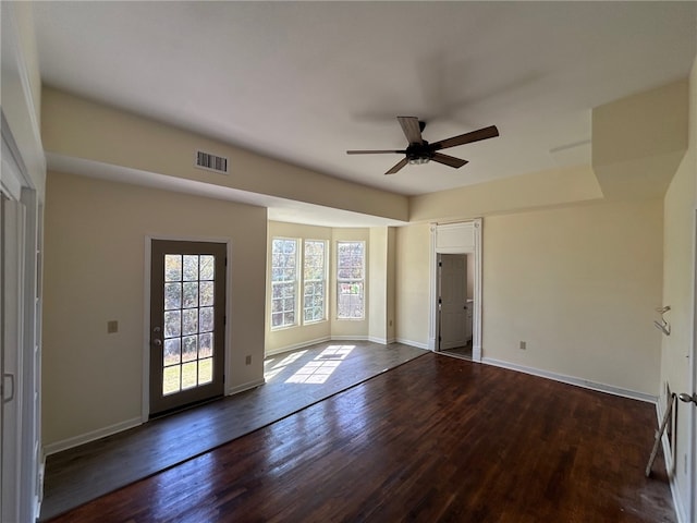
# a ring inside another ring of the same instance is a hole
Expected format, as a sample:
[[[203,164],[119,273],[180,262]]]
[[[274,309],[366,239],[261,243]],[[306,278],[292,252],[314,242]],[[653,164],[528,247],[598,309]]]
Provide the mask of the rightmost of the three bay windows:
[[[337,317],[363,319],[365,243],[337,242]]]

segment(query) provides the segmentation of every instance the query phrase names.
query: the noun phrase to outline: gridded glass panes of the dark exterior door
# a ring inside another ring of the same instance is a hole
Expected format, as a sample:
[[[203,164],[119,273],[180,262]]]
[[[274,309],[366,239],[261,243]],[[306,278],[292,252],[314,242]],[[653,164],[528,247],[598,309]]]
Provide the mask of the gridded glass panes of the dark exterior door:
[[[162,396],[213,379],[215,256],[164,255]]]

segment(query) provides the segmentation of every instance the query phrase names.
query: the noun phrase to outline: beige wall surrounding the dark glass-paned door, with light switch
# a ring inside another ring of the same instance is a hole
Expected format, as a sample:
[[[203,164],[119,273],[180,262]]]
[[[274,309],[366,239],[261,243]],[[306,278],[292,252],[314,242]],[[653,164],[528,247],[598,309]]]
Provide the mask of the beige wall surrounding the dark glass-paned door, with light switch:
[[[230,388],[264,377],[266,209],[51,172],[44,281],[44,443],[140,416],[146,236],[229,239]],[[107,333],[118,320],[119,332]],[[245,356],[252,355],[252,365]]]

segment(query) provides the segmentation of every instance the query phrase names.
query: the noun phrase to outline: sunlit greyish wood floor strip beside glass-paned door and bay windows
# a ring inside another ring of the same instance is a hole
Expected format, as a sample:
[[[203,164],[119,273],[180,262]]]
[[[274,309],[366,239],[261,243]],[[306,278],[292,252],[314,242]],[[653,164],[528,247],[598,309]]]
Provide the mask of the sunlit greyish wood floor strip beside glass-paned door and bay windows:
[[[262,387],[48,457],[40,521],[207,452],[427,351],[318,343],[265,361]]]

